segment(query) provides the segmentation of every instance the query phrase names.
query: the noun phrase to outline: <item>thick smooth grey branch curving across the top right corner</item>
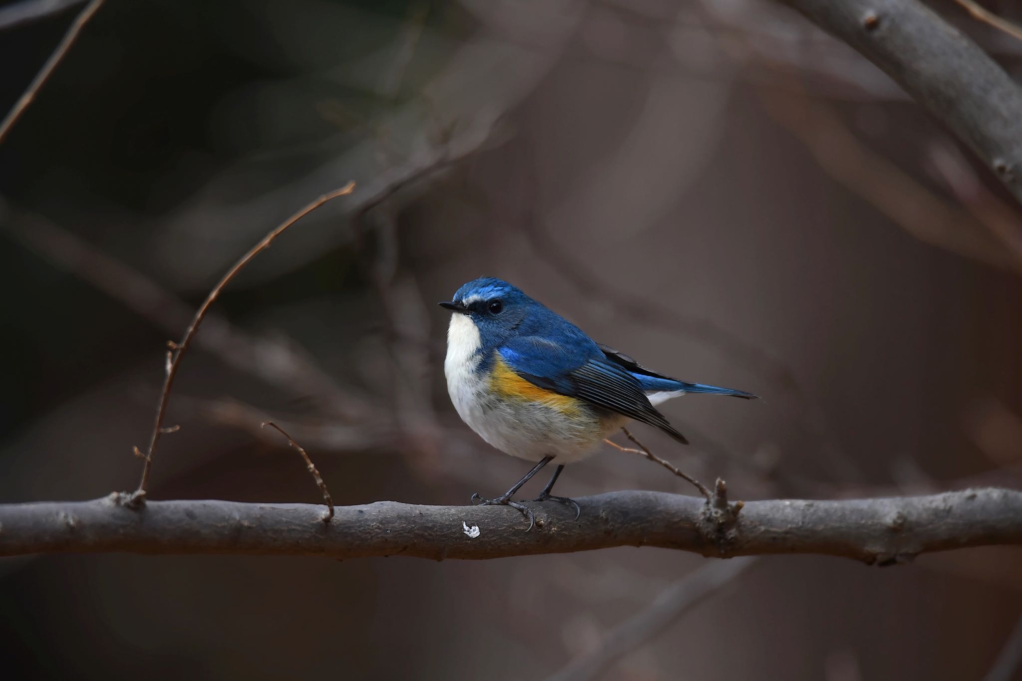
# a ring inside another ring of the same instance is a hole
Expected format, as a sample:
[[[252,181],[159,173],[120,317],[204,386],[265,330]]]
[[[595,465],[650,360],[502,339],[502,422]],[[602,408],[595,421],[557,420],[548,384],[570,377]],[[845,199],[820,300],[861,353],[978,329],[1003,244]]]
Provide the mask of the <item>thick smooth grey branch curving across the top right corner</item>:
[[[887,72],[1022,203],[1022,89],[917,0],[778,0]]]

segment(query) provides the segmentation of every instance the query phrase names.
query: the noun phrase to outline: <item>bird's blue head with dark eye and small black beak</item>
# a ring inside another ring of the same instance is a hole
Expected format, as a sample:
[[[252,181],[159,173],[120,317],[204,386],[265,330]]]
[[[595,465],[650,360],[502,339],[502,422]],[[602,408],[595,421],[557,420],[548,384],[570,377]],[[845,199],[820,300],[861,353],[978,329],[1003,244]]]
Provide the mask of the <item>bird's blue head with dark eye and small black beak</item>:
[[[493,277],[465,284],[440,306],[470,319],[485,346],[507,340],[530,312],[543,309],[520,289]]]

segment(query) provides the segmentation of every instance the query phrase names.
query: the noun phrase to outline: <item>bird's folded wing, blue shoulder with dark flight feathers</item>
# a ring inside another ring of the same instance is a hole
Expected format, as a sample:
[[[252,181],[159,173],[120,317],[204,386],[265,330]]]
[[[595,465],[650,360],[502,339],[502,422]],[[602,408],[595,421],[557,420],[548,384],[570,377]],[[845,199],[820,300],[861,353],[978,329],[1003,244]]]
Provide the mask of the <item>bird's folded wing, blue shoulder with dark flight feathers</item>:
[[[650,404],[639,380],[608,359],[580,331],[550,337],[518,336],[498,352],[518,376],[535,386],[656,426],[679,442],[688,443]]]

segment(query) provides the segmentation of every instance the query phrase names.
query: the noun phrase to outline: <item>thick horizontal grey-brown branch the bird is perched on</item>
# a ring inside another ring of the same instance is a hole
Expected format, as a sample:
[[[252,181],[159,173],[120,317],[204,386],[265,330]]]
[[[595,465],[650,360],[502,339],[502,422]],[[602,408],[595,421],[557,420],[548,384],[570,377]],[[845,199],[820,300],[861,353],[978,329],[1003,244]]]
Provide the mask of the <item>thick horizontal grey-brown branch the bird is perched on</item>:
[[[1022,492],[973,489],[931,496],[839,501],[749,501],[721,527],[703,499],[619,491],[532,503],[537,523],[502,506],[396,501],[323,507],[304,503],[149,501],[128,494],[92,501],[0,505],[0,555],[52,552],[247,553],[350,558],[411,555],[496,558],[610,546],[660,546],[729,557],[818,553],[893,565],[928,551],[1022,544]]]

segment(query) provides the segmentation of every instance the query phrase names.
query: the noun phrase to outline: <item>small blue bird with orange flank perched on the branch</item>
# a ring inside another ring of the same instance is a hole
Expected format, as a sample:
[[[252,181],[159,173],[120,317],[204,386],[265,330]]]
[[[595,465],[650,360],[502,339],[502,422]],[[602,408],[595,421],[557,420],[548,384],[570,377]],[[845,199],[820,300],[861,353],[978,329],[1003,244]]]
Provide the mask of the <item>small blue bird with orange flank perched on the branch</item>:
[[[557,470],[533,500],[573,504],[577,518],[578,504],[550,490],[565,464],[588,456],[629,419],[687,444],[656,404],[687,392],[755,397],[651,372],[499,279],[471,281],[439,304],[455,312],[444,374],[458,415],[494,447],[539,461],[504,494],[476,493],[472,500],[513,506],[529,519],[529,529],[532,512],[511,496],[550,461],[557,460]]]

